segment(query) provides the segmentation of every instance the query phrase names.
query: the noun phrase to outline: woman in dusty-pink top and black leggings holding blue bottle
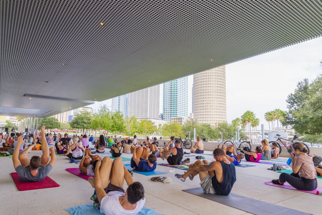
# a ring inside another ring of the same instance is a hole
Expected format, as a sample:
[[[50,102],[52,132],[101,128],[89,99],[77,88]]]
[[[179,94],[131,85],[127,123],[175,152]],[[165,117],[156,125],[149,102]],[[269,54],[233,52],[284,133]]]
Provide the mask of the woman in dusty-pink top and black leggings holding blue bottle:
[[[297,190],[313,191],[317,189],[317,172],[314,167],[312,157],[307,155],[308,150],[303,143],[295,142],[292,145],[293,153],[290,157],[292,159],[292,173],[281,173],[279,179],[272,180],[273,184],[284,184],[288,182]]]

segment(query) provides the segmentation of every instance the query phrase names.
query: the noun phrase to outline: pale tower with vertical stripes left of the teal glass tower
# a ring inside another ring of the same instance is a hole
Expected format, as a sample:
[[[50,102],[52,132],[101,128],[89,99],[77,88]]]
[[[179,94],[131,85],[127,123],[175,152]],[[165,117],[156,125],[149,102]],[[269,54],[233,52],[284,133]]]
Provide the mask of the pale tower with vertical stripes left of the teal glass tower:
[[[128,116],[139,119],[159,119],[160,85],[128,94]]]

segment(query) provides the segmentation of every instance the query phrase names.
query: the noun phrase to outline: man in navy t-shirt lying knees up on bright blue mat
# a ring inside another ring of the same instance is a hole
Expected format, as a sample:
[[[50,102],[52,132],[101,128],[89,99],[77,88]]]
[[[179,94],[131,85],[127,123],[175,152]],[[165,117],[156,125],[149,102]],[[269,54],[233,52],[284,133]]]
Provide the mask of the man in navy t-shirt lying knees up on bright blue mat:
[[[149,148],[137,146],[131,158],[131,167],[139,172],[152,172],[156,169],[156,156],[150,154]]]

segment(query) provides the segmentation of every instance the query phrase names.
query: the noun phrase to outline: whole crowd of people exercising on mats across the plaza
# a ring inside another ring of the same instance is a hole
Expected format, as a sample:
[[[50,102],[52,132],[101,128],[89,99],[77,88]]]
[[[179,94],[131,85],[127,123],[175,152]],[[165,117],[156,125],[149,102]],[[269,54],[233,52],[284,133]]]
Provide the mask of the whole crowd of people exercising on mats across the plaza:
[[[169,165],[190,163],[190,159],[183,161],[184,154],[189,153],[181,148],[181,141],[174,136],[164,147],[159,146],[156,137],[153,141],[147,137],[140,142],[136,135],[133,139],[127,137],[120,142],[116,136],[104,138],[104,135],[100,135],[94,143],[93,137],[86,134],[69,137],[65,133],[62,137],[62,134],[45,133],[45,126],[42,126],[40,133],[0,133],[0,139],[5,139],[3,147],[8,147],[8,152],[13,155],[14,168],[22,181],[42,181],[54,167],[55,153],[69,159],[81,160],[79,170],[91,176],[89,182],[95,188],[91,197],[94,208],[104,214],[136,214],[145,203],[144,187],[140,182],[134,182],[131,172],[120,158],[122,153],[132,154],[130,166],[135,171],[156,170],[158,157],[166,160]],[[26,146],[26,142],[31,144]],[[91,142],[95,144],[95,152],[90,149]],[[54,143],[54,147],[49,148],[51,143]],[[316,189],[317,176],[322,175],[321,157],[309,156],[301,142],[293,143],[292,147],[290,158],[293,172],[281,173],[279,179],[272,180],[272,183],[288,182],[296,189],[304,191]],[[42,156],[29,159],[28,153],[31,150],[41,150]],[[109,150],[114,161],[109,157],[100,157],[99,153],[106,150]],[[215,161],[197,160],[188,166],[184,174],[175,174],[175,177],[185,182],[186,178],[194,180],[199,175],[200,186],[205,193],[229,195],[236,181],[235,165],[239,165],[243,159],[251,162],[275,159],[279,157],[279,152],[279,147],[274,143],[270,146],[267,140],[262,140],[261,146],[256,146],[254,151],[244,147],[239,153],[233,145],[219,143],[213,150]],[[197,137],[190,153],[204,153],[204,143],[200,137]],[[123,189],[124,180],[128,184],[126,191]]]

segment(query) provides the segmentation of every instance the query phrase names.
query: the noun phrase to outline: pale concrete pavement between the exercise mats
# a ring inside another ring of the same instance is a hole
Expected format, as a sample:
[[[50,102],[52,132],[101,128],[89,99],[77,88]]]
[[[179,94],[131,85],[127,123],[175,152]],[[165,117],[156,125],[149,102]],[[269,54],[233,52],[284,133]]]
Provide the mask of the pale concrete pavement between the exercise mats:
[[[211,152],[206,151],[205,153]],[[33,155],[41,155],[41,152],[32,151],[30,156]],[[131,158],[132,155],[123,153],[122,156]],[[60,184],[60,187],[31,191],[17,190],[10,176],[10,172],[14,172],[12,159],[0,157],[0,181],[2,187],[0,202],[3,206],[2,215],[69,214],[64,210],[65,208],[92,203],[90,197],[94,189],[90,184],[86,180],[65,171],[66,168],[77,168],[78,165],[69,163],[63,156],[56,157],[56,164],[49,176]],[[211,155],[205,155],[204,157],[206,160],[213,160]],[[192,162],[196,161],[194,157],[189,158]],[[160,158],[158,158],[157,162],[166,163],[166,161],[162,161]],[[130,161],[125,161],[124,163],[130,163]],[[249,162],[242,163],[250,164]],[[279,173],[267,170],[267,168],[272,166],[270,164],[254,163],[252,165],[255,166],[248,168],[236,167],[237,181],[233,186],[232,193],[308,213],[321,213],[322,196],[265,185],[265,181],[277,179]],[[200,183],[199,178],[195,178],[194,181],[186,180],[185,182],[176,179],[175,173],[183,174],[183,170],[175,169],[174,172],[169,172],[173,168],[160,165],[157,166],[156,170],[167,172],[167,174],[162,176],[170,176],[173,182],[167,184],[155,182],[150,180],[152,176],[133,173],[134,180],[140,181],[144,185],[146,191],[145,206],[147,208],[166,215],[250,214],[182,191],[198,187]],[[322,187],[322,179],[317,180],[318,187]]]

